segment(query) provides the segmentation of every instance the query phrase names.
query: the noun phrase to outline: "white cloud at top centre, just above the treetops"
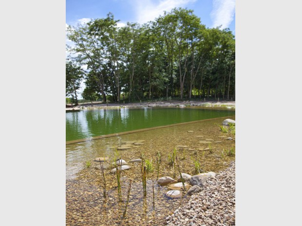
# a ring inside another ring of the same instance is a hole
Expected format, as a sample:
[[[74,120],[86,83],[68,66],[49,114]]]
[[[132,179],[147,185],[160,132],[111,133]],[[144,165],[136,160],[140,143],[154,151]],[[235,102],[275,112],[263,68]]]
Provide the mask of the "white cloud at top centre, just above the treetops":
[[[196,0],[160,0],[157,4],[152,0],[135,0],[136,22],[143,24],[169,12],[173,8],[185,7]]]

